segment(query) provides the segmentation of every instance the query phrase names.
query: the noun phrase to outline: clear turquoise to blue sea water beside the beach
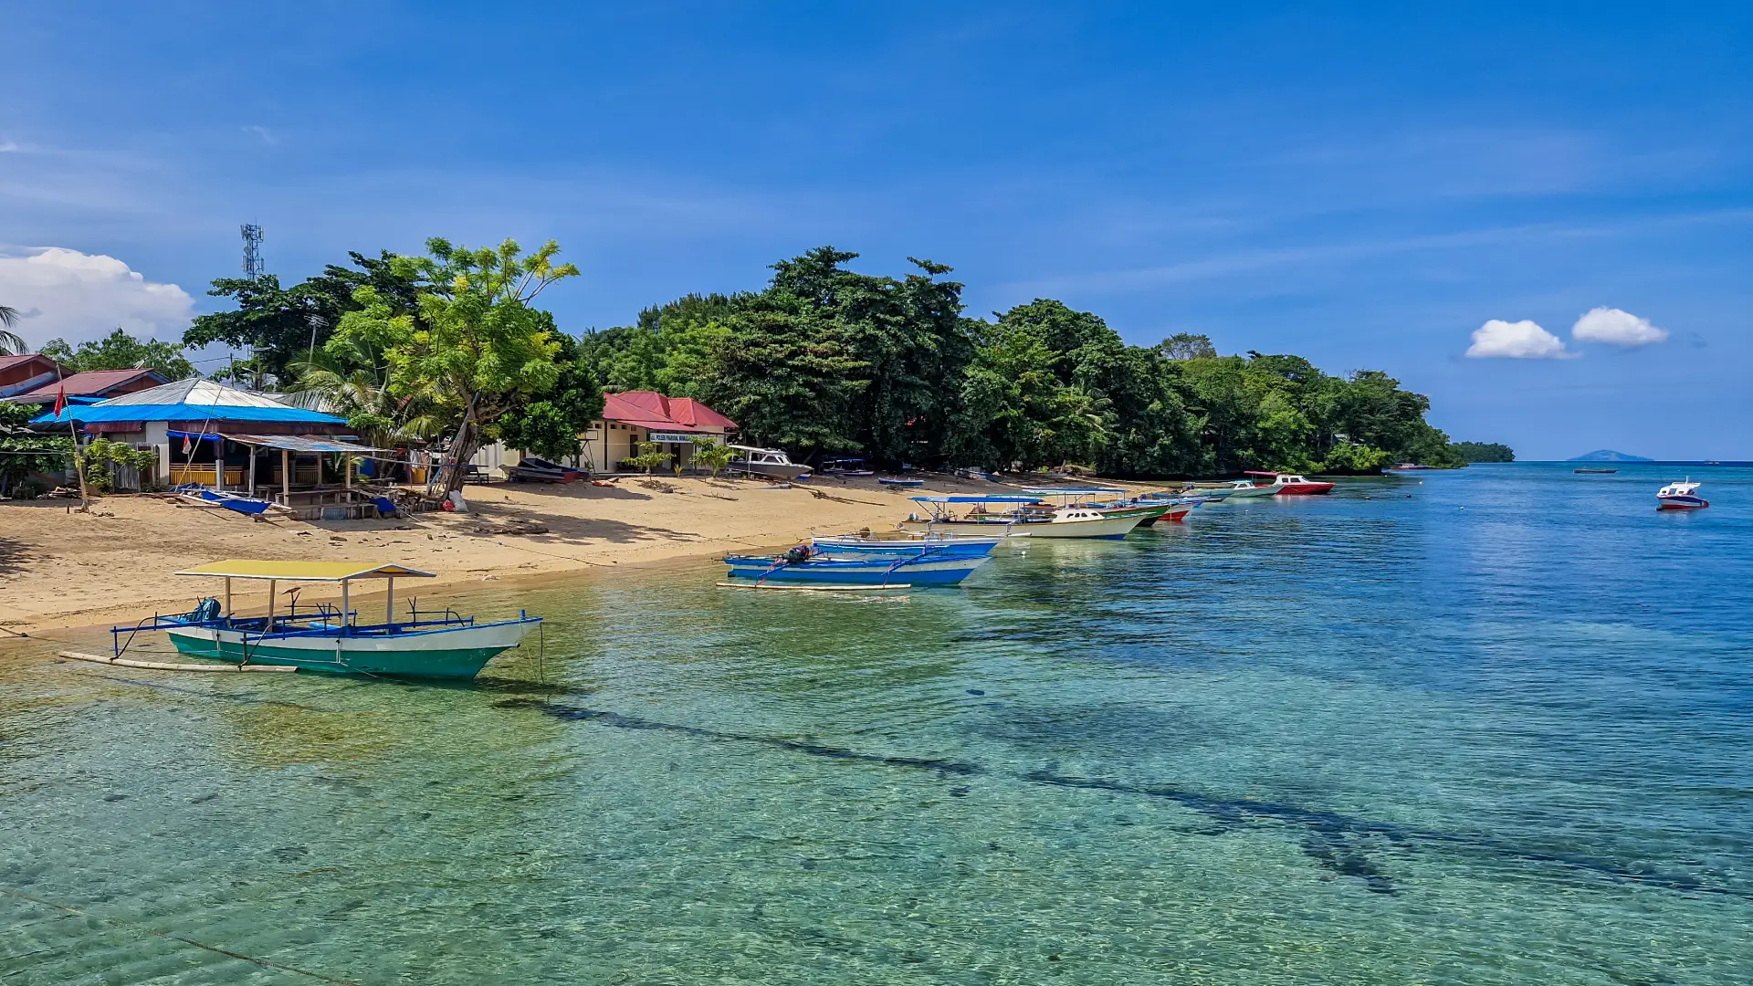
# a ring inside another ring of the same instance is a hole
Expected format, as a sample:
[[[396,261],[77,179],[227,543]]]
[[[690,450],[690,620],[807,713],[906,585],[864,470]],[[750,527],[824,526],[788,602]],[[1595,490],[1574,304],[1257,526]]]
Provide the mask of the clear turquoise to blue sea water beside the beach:
[[[475,688],[11,647],[0,981],[1746,982],[1753,470],[1667,472],[500,588]]]

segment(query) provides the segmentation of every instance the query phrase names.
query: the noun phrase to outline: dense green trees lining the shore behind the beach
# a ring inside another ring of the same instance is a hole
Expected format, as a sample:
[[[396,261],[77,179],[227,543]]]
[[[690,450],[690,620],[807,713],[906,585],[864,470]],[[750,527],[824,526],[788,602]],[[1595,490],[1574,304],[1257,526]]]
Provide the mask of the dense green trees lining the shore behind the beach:
[[[291,288],[221,279],[210,293],[237,309],[196,318],[184,344],[251,347],[237,375],[321,400],[373,437],[447,435],[468,419],[472,442],[550,458],[577,454],[607,388],[696,397],[803,461],[859,454],[884,468],[1180,477],[1467,461],[1467,446],[1425,423],[1429,398],[1380,370],[1222,356],[1203,335],[1127,346],[1048,298],[969,318],[962,284],[926,260],[885,277],[817,247],[775,263],[761,291],[685,295],[573,337],[535,307],[577,274],[556,254],[552,242],[524,256],[514,242],[431,240],[428,256],[354,253]]]

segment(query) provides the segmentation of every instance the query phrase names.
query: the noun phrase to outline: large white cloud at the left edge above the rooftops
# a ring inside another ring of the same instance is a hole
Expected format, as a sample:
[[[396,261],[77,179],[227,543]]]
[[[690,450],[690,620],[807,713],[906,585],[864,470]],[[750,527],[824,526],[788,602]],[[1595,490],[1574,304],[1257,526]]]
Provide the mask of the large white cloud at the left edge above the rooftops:
[[[63,247],[0,256],[0,305],[25,312],[14,332],[33,347],[54,337],[79,344],[116,326],[174,342],[195,316],[182,288],[147,281],[114,256]]]

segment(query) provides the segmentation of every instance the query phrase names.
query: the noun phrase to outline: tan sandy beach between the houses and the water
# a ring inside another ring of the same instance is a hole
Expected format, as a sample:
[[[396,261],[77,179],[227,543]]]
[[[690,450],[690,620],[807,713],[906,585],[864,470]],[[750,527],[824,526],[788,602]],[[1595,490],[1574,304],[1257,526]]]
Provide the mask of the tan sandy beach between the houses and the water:
[[[934,475],[933,491],[997,491]],[[156,497],[0,502],[0,626],[32,632],[186,611],[214,586],[174,572],[221,558],[394,561],[422,586],[614,572],[622,565],[784,547],[813,533],[885,530],[910,495],[875,479],[808,486],[699,477],[619,477],[608,486],[470,486],[468,514],[379,521],[258,523]],[[312,586],[305,598],[323,598]]]

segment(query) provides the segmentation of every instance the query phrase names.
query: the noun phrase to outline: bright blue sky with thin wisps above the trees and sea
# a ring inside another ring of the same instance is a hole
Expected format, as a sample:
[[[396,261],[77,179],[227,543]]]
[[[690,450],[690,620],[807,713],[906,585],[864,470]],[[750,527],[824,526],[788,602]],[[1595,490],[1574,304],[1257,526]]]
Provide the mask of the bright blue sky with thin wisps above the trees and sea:
[[[1753,5],[1218,7],[16,5],[0,304],[174,337],[258,221],[282,281],[557,239],[580,332],[833,244],[1383,368],[1523,458],[1753,458]],[[1492,319],[1565,358],[1466,356]]]

